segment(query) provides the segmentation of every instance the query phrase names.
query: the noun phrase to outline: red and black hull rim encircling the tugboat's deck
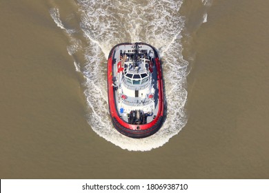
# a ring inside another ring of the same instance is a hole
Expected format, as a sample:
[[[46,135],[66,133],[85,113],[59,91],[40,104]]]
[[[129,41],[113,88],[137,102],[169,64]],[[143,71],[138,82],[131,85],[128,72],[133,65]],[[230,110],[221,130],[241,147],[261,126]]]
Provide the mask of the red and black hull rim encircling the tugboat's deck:
[[[131,43],[121,43],[118,45],[124,45]],[[139,43],[143,45],[148,45],[146,43]],[[118,45],[115,45],[114,48],[116,48]],[[149,45],[152,47],[151,45]],[[121,134],[124,134],[126,136],[132,137],[132,138],[144,138],[146,136],[150,136],[152,134],[155,134],[161,128],[161,125],[163,123],[163,77],[162,77],[162,70],[161,70],[161,61],[159,61],[159,58],[155,58],[155,63],[157,65],[157,81],[158,81],[158,89],[159,89],[159,111],[157,113],[157,116],[155,119],[153,119],[152,122],[146,123],[143,125],[131,125],[127,123],[126,121],[123,121],[119,117],[119,113],[117,112],[115,99],[114,99],[114,92],[112,87],[112,54],[114,53],[114,48],[110,51],[110,54],[108,56],[108,105],[110,110],[110,116],[112,118],[112,123],[114,125],[114,128],[116,128]],[[153,48],[155,50],[155,48]],[[155,50],[156,54],[157,51]]]

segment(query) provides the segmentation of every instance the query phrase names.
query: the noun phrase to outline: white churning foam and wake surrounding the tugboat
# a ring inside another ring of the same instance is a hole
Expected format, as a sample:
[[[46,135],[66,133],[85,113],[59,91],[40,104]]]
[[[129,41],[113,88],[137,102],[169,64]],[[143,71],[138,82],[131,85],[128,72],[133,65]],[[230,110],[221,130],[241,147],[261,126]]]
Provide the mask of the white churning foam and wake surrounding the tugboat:
[[[73,2],[74,3],[74,2]],[[148,151],[167,143],[186,125],[186,77],[188,62],[182,56],[182,30],[186,18],[179,13],[183,1],[78,0],[74,14],[77,27],[70,28],[72,15],[63,17],[61,7],[50,15],[70,40],[68,54],[74,58],[77,72],[85,77],[88,123],[99,136],[126,150]],[[204,6],[210,1],[202,0]],[[70,19],[71,18],[71,19]],[[206,22],[207,15],[203,15]],[[70,22],[70,23],[69,23]],[[83,39],[78,38],[81,34]],[[130,139],[113,128],[108,112],[106,59],[110,49],[121,42],[145,42],[161,56],[166,99],[166,119],[162,128],[146,139]],[[82,52],[85,61],[79,61]]]

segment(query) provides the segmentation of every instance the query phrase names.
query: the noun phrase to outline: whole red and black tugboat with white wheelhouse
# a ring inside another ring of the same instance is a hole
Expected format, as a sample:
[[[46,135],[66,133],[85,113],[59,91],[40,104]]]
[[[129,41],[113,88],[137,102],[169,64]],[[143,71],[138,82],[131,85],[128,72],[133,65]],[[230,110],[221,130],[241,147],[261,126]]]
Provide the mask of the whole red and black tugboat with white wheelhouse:
[[[108,55],[108,105],[114,128],[132,138],[155,134],[163,122],[163,77],[157,50],[119,43]]]

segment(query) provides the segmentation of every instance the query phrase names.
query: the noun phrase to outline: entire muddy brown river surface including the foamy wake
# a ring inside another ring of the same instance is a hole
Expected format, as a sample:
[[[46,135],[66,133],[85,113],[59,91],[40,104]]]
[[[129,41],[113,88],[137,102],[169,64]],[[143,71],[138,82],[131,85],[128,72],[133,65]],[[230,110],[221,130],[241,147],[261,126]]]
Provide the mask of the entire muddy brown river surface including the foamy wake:
[[[269,1],[0,1],[1,179],[268,179]],[[106,59],[159,50],[166,119],[130,139]]]

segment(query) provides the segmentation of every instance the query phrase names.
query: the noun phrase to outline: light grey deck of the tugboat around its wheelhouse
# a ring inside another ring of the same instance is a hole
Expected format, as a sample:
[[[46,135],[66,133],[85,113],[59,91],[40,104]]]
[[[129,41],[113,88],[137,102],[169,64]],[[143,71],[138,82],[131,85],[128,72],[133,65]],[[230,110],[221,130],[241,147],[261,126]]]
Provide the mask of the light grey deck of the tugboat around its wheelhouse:
[[[112,59],[113,61],[113,80],[115,84],[114,88],[114,99],[116,102],[117,110],[119,113],[119,116],[123,121],[126,121],[128,123],[128,112],[130,110],[143,110],[143,112],[148,113],[150,112],[150,116],[147,116],[146,121],[147,123],[150,123],[153,121],[155,116],[157,116],[157,113],[159,111],[159,97],[158,97],[158,81],[157,81],[157,67],[155,64],[155,56],[154,54],[151,55],[151,59],[153,61],[153,66],[152,66],[152,73],[150,73],[150,81],[148,83],[142,84],[142,85],[128,85],[124,81],[121,81],[121,77],[119,77],[119,73],[117,73],[117,64],[121,62],[123,63],[126,61],[126,59],[122,59],[121,53],[126,50],[126,55],[128,56],[128,53],[132,52],[127,52],[130,50],[133,50],[132,45],[120,45],[118,48],[115,49],[114,52],[114,57]],[[141,45],[141,48],[139,50],[152,50],[150,46],[148,45]],[[142,69],[143,70],[143,69]],[[152,86],[153,85],[153,86]],[[136,96],[128,96],[126,99],[121,98],[121,94],[123,93],[123,86],[128,88],[129,90],[133,90],[135,92]],[[140,97],[137,96],[139,95],[140,90],[146,90],[146,89],[154,89],[155,94],[153,94],[152,98],[150,99],[149,97]],[[129,111],[121,111],[121,108],[127,108]]]

